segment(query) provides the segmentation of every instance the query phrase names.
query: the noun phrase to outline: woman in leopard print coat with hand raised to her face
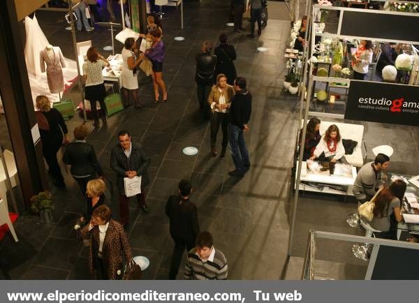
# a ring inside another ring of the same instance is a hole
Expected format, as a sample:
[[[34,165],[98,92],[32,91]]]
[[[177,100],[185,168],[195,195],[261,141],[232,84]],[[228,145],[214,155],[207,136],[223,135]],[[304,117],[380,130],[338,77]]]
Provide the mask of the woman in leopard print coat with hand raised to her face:
[[[98,279],[121,279],[123,256],[131,260],[131,248],[122,225],[110,219],[110,209],[106,205],[96,208],[91,215],[91,221],[80,231],[82,239],[91,239],[89,269],[96,272]],[[103,245],[101,246],[101,234]],[[100,250],[101,249],[101,250]],[[118,274],[118,271],[120,273]]]

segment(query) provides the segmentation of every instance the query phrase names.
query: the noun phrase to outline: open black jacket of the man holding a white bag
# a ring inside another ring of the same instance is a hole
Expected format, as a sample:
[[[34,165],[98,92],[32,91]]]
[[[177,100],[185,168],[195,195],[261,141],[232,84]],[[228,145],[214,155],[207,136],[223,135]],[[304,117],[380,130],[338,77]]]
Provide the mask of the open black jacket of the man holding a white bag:
[[[141,188],[147,186],[150,182],[147,168],[151,159],[145,150],[138,143],[131,142],[131,156],[128,158],[124,153],[121,145],[117,145],[112,149],[110,154],[110,168],[117,172],[117,188],[119,193],[124,194],[124,177],[128,170],[135,170],[138,176],[141,176]]]

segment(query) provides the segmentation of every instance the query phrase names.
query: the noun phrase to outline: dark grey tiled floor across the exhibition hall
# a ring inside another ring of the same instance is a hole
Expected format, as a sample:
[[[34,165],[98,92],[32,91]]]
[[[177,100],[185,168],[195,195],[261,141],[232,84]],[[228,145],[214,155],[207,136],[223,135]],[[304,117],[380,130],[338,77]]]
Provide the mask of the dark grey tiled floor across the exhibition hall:
[[[280,4],[277,7],[286,11],[284,3]],[[231,28],[223,25],[228,21],[228,1],[185,3],[183,30],[179,29],[179,11],[170,9],[167,13],[168,19],[163,20],[167,50],[163,79],[169,89],[168,103],[154,105],[152,86],[145,77],[141,78],[140,100],[147,106],[115,114],[108,119],[108,126],[92,128],[88,138],[110,178],[114,176],[109,167],[110,150],[117,144],[116,133],[122,128],[131,131],[134,140],[141,142],[152,158],[149,168],[152,182],[147,189],[150,213],[139,214],[135,200],[130,201],[128,234],[133,253],[147,256],[151,261],[144,273],[146,279],[167,279],[173,242],[163,209],[168,195],[177,193],[179,179],[185,177],[191,179],[194,187],[191,200],[198,206],[201,230],[210,230],[216,248],[226,254],[229,278],[281,279],[291,224],[291,168],[298,112],[295,96],[284,93],[282,88],[283,51],[290,27],[288,15],[277,12],[274,15],[279,19],[269,20],[262,36],[249,40],[247,33],[233,34]],[[37,16],[50,43],[60,45],[64,55],[73,58],[71,34],[64,31],[62,13],[38,12]],[[247,21],[244,25],[249,27]],[[253,94],[251,131],[246,134],[252,166],[240,181],[227,174],[233,169],[230,156],[210,156],[208,122],[198,112],[193,82],[193,57],[199,52],[200,44],[204,39],[216,43],[221,32],[227,33],[230,43],[237,48],[237,71],[247,77]],[[176,42],[175,36],[186,39]],[[78,40],[91,38],[98,48],[110,44],[106,29],[78,34]],[[122,49],[121,43],[116,45]],[[268,52],[256,50],[262,45],[269,47]],[[69,98],[79,102],[77,87],[69,93]],[[71,132],[80,123],[80,117],[67,122]],[[4,119],[0,119],[0,124],[6,128]],[[392,170],[417,175],[419,133],[416,128],[362,124],[368,158],[373,157],[372,147],[385,142],[395,148]],[[8,138],[1,137],[1,140],[8,144]],[[409,148],[404,142],[411,142]],[[199,154],[182,154],[186,146],[197,147]],[[87,269],[88,251],[75,239],[72,230],[82,207],[82,195],[70,175],[65,175],[65,179],[65,191],[51,188],[57,203],[54,223],[40,223],[35,216],[24,214],[15,223],[20,242],[13,242],[8,235],[0,242],[3,279],[8,276],[11,279],[91,279]],[[116,195],[111,200],[112,212],[118,217]],[[346,214],[355,207],[351,199],[343,202],[329,195],[301,195],[293,256],[304,257],[310,229],[361,234],[349,228],[345,221]],[[344,264],[343,278],[362,278],[360,271],[365,264],[351,256],[347,244],[321,243],[318,258]],[[296,273],[291,276],[299,277],[300,269],[293,270]],[[181,265],[179,279],[182,274]]]

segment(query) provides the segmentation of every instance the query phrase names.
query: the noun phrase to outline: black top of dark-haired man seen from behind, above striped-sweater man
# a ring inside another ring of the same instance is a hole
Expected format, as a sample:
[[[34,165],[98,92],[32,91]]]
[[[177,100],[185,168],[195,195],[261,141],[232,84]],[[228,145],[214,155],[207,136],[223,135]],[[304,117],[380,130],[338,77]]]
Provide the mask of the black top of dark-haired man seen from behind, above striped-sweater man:
[[[170,235],[173,239],[195,242],[199,233],[198,210],[179,195],[170,195],[166,202],[166,215],[170,220]]]

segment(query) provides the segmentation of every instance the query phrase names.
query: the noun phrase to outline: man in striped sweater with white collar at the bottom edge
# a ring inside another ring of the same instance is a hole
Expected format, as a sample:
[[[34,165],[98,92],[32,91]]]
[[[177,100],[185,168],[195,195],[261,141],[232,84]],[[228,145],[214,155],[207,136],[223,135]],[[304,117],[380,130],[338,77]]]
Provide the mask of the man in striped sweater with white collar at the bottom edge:
[[[213,246],[210,232],[200,232],[196,237],[196,247],[186,258],[186,280],[226,280],[228,275],[227,259]]]

